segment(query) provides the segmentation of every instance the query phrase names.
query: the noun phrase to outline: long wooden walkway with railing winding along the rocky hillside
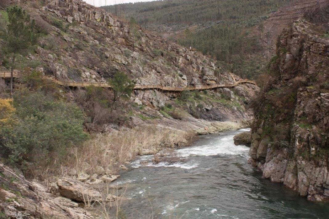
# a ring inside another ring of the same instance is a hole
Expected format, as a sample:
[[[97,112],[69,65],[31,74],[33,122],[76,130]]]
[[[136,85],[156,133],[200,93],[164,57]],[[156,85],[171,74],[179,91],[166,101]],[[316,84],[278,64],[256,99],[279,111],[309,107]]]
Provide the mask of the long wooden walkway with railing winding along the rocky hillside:
[[[10,77],[10,72],[8,71],[0,71],[0,77]],[[19,77],[19,72],[14,71],[13,77]],[[89,86],[95,86],[95,87],[109,87],[111,86],[108,83],[98,83],[98,82],[75,82],[75,81],[65,81],[60,80],[53,76],[44,75],[44,77],[51,79],[55,83],[63,86],[71,86],[71,87],[89,87]],[[218,87],[235,87],[238,84],[241,83],[250,83],[255,84],[255,81],[248,80],[248,79],[241,79],[233,84],[213,84],[213,85],[205,85],[205,86],[198,86],[198,87],[169,87],[169,86],[162,86],[162,85],[135,85],[134,89],[159,89],[164,91],[188,91],[188,90],[208,90]]]

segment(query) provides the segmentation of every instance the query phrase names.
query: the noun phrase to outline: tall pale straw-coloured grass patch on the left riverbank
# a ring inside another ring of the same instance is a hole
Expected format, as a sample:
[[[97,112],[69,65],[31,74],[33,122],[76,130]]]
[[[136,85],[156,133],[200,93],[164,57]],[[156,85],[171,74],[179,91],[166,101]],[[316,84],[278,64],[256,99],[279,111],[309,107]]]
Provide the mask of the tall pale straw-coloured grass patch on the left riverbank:
[[[85,163],[90,164],[90,169],[99,165],[112,170],[113,163],[131,161],[140,150],[158,150],[160,145],[171,148],[185,146],[193,136],[193,132],[155,125],[123,128],[113,133],[94,135],[80,148],[72,151],[74,156],[71,156],[68,163],[77,170],[83,168]]]

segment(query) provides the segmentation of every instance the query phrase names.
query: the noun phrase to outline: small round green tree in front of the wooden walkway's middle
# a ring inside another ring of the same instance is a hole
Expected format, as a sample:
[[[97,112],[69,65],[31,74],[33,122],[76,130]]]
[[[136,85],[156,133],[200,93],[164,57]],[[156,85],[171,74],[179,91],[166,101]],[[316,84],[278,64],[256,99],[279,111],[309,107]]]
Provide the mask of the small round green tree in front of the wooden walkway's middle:
[[[114,93],[113,103],[120,98],[130,97],[135,87],[135,83],[123,72],[116,73],[114,78],[109,80],[109,84]]]

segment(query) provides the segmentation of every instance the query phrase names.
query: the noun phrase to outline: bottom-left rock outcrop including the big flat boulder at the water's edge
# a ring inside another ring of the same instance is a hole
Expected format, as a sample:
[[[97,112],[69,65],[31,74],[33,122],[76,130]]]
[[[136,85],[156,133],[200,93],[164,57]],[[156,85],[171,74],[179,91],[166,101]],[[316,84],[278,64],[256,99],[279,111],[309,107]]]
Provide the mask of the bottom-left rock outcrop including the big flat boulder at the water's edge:
[[[111,178],[112,177],[112,178]],[[109,182],[118,176],[109,176]],[[56,179],[49,187],[37,180],[27,181],[23,175],[0,163],[0,210],[6,218],[99,218],[83,208],[84,204],[108,203],[120,199],[108,194],[109,185],[90,186],[73,178]],[[93,181],[97,181],[94,179]],[[89,180],[92,181],[92,180]],[[103,183],[99,180],[99,183]],[[1,217],[2,218],[2,217]]]

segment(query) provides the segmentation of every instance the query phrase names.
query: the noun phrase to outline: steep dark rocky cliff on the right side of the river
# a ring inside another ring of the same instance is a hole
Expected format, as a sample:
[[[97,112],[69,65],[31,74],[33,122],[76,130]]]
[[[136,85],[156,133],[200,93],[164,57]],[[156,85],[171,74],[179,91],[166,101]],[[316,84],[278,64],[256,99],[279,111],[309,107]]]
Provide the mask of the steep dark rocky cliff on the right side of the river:
[[[316,201],[329,199],[329,39],[324,27],[299,19],[279,36],[272,79],[255,107],[249,152],[250,163],[264,177]]]

